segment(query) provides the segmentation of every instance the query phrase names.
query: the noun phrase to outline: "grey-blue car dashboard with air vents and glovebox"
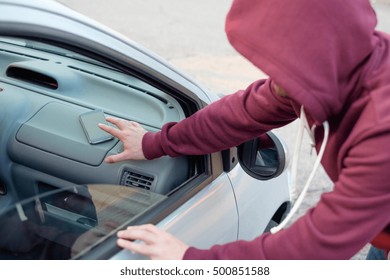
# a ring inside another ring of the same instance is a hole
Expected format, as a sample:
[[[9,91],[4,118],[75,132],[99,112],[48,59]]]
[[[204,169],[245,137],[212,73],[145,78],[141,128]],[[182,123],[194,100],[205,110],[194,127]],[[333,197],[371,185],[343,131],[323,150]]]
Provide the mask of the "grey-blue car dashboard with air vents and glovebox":
[[[3,192],[30,197],[95,183],[166,194],[188,178],[186,158],[105,163],[123,147],[116,138],[88,143],[79,115],[94,109],[149,131],[185,117],[170,95],[109,65],[40,42],[0,38]]]

